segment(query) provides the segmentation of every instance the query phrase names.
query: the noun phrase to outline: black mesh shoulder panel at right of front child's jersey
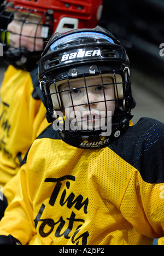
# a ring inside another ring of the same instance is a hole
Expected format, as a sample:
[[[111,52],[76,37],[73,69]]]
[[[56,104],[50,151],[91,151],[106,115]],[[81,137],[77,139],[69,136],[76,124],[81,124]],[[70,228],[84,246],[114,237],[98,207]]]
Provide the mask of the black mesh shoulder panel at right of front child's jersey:
[[[145,182],[164,182],[164,124],[160,121],[141,118],[109,148],[137,168]]]

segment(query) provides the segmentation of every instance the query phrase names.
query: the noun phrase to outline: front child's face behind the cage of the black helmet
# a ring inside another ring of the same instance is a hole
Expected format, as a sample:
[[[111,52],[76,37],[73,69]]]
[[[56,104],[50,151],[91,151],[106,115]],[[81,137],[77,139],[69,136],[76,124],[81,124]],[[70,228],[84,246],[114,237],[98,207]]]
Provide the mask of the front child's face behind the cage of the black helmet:
[[[71,90],[60,93],[66,116],[68,115],[67,110],[69,109],[68,118],[72,121],[74,115],[70,117],[70,113],[75,112],[78,129],[98,129],[100,127],[100,121],[102,123],[105,122],[105,125],[107,125],[111,120],[111,115],[114,114],[115,110],[113,78],[110,76],[104,77],[103,85],[101,77],[86,77],[86,86],[84,79],[74,79],[69,82]],[[68,90],[68,83],[61,84],[59,90]],[[107,111],[111,112],[108,121],[106,118]]]

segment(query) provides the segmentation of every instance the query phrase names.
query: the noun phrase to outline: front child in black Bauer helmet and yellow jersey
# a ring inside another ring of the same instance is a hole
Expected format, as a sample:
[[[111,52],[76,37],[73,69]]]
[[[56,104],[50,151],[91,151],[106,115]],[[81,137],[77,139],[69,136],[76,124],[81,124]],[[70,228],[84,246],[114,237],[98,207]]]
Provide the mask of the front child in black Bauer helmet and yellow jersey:
[[[131,124],[125,49],[101,27],[57,33],[38,70],[52,124],[22,163],[1,245],[162,244],[164,125]]]

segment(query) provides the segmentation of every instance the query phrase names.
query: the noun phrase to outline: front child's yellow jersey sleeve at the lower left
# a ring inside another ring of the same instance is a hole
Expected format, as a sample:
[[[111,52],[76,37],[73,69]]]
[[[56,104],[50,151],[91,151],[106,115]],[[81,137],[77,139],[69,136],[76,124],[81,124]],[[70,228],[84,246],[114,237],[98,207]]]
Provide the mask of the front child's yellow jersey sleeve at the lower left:
[[[33,207],[27,185],[26,165],[21,168],[20,181],[14,200],[7,207],[0,222],[0,240],[1,236],[11,235],[21,245],[27,245],[36,230],[33,225]]]

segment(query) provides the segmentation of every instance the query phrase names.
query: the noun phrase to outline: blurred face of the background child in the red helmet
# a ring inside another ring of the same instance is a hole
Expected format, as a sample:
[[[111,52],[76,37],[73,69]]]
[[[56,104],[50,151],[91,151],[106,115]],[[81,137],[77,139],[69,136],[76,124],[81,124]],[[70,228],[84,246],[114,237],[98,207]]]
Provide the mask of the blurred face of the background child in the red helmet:
[[[14,48],[25,47],[29,51],[42,51],[43,39],[40,37],[42,26],[37,26],[39,18],[17,11],[14,19],[8,25],[10,46]],[[32,23],[31,23],[32,22]],[[35,24],[33,24],[35,23]]]

